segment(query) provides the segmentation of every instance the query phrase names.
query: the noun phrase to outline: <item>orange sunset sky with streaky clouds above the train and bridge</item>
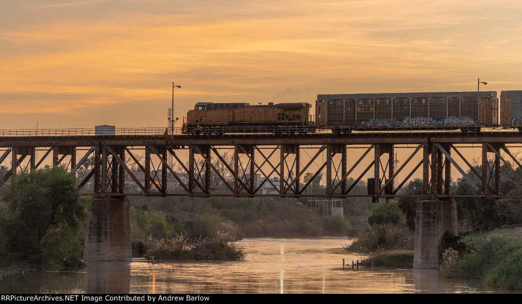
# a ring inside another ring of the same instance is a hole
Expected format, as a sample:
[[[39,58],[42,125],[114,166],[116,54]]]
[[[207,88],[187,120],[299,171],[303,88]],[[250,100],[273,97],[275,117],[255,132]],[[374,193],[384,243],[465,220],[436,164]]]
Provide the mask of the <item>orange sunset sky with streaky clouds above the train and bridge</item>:
[[[0,128],[165,127],[196,102],[522,90],[522,2],[0,0]]]

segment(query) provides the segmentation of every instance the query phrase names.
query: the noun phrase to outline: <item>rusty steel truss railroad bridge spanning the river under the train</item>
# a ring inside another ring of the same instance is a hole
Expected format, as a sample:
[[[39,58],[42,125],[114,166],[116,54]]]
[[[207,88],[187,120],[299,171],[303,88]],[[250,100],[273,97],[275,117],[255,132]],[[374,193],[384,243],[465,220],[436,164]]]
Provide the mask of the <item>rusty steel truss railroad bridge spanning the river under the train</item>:
[[[452,170],[476,190],[466,197],[522,197],[500,193],[501,161],[513,178],[522,181],[516,171],[522,165],[514,156],[522,148],[522,137],[516,132],[189,136],[172,135],[164,128],[116,129],[114,135],[96,135],[94,130],[0,130],[0,147],[0,165],[9,169],[0,176],[0,186],[21,168],[52,163],[75,172],[93,157],[93,166],[78,188],[100,198],[366,196],[377,200],[418,197],[398,191],[413,177],[422,177],[421,198],[444,200],[456,197],[450,193]],[[466,156],[470,153],[478,155],[475,166]],[[256,174],[262,182],[255,183]],[[126,178],[139,191],[125,189]],[[353,193],[354,186],[366,178],[370,178],[368,191]],[[168,187],[169,179],[176,181],[175,190]],[[318,179],[322,192],[311,193],[309,188]],[[272,191],[262,191],[266,188]]]

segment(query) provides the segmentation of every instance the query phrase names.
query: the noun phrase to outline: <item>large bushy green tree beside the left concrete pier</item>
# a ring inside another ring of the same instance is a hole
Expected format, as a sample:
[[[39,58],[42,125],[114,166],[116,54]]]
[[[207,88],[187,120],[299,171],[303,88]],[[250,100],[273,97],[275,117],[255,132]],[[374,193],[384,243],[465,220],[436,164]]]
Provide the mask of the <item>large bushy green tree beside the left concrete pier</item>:
[[[61,166],[16,174],[0,190],[0,252],[33,263],[65,266],[81,261],[89,199]]]

